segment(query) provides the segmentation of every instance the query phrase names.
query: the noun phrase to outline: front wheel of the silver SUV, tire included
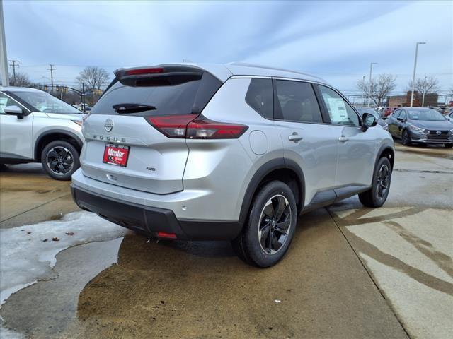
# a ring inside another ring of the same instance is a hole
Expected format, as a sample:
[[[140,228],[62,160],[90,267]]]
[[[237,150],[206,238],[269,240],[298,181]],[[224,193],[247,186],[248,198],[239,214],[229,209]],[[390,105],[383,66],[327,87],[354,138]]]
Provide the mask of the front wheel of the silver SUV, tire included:
[[[386,157],[382,157],[374,169],[372,188],[359,194],[360,202],[367,207],[381,207],[389,196],[390,182],[390,161]]]

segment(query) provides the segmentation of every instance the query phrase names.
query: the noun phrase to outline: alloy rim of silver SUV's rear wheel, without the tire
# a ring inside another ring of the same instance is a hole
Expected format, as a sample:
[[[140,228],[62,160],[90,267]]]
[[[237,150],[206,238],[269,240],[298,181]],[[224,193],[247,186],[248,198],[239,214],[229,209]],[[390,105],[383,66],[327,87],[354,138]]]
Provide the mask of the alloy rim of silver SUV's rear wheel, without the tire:
[[[258,240],[267,254],[275,254],[287,242],[291,227],[291,206],[285,196],[277,194],[270,198],[261,211]]]

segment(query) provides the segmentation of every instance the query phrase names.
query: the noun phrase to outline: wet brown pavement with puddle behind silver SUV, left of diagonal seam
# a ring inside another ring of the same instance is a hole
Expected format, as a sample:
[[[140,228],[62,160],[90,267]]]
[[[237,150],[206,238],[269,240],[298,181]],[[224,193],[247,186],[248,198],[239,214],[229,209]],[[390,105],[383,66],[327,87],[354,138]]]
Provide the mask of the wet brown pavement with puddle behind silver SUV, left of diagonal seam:
[[[8,299],[6,327],[31,338],[403,338],[325,210],[304,215],[285,260],[265,270],[240,261],[229,242],[156,244],[137,234],[68,249],[55,269],[59,278]],[[336,297],[338,286],[358,297]],[[364,326],[364,313],[379,320]]]

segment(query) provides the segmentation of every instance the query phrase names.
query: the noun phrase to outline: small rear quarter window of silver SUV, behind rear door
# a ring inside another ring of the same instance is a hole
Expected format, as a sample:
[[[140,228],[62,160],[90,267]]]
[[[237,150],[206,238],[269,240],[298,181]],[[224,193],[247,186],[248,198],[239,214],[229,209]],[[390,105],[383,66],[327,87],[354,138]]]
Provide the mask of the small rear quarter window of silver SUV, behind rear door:
[[[246,102],[263,117],[273,119],[274,100],[272,80],[252,79],[248,86]]]

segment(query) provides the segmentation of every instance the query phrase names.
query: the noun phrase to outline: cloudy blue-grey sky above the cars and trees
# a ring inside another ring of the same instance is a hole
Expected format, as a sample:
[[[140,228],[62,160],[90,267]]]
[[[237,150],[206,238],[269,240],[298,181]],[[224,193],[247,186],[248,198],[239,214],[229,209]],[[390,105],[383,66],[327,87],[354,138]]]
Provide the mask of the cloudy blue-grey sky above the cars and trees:
[[[453,88],[452,1],[4,1],[8,59],[30,80],[74,85],[84,66],[110,73],[187,59],[243,61],[313,73],[346,94],[374,75],[418,76]]]

